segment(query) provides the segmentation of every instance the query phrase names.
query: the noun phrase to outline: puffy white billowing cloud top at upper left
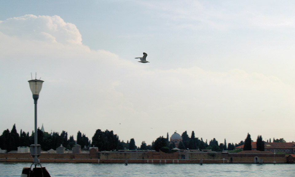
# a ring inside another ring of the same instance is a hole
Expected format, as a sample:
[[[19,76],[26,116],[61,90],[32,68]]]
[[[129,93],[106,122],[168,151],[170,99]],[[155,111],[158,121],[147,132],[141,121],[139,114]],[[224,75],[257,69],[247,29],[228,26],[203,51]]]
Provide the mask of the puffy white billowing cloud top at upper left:
[[[9,36],[22,39],[58,42],[62,44],[82,44],[82,37],[77,27],[66,23],[61,17],[24,15],[1,22],[0,31]]]

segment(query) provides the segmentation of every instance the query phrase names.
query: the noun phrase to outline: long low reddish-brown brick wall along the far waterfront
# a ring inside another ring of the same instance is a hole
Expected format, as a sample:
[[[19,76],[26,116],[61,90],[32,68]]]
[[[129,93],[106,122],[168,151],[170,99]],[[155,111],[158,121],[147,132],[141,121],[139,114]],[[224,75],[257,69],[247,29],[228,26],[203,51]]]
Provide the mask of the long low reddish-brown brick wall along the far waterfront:
[[[255,158],[257,157],[257,161]],[[285,154],[229,154],[221,152],[98,152],[92,154],[41,154],[40,162],[60,163],[286,163]],[[29,153],[0,153],[0,162],[32,162]]]

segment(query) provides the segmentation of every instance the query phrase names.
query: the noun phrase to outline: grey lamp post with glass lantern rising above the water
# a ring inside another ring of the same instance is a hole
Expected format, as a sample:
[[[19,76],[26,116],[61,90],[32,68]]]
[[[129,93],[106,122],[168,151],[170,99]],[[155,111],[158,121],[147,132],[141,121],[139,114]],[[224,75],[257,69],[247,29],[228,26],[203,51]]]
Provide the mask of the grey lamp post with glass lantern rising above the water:
[[[42,84],[44,81],[35,79],[35,80],[30,80],[28,81],[30,85],[30,89],[33,93],[33,99],[34,99],[34,104],[35,104],[35,133],[34,133],[34,144],[31,145],[31,155],[34,158],[34,165],[36,168],[36,165],[38,165],[40,162],[38,160],[38,156],[41,154],[41,145],[38,144],[38,139],[37,139],[37,100],[39,98],[39,93],[42,88]]]

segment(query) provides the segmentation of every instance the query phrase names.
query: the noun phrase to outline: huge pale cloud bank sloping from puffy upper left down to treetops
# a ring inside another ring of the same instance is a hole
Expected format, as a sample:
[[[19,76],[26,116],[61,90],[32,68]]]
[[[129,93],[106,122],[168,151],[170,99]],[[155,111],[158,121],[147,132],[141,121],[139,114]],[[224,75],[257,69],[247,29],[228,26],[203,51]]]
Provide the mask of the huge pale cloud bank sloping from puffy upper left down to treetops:
[[[273,126],[270,119],[293,121],[294,89],[273,76],[196,66],[154,69],[153,62],[89,49],[75,25],[58,16],[9,18],[0,23],[0,38],[0,74],[6,76],[0,80],[6,83],[0,86],[1,120],[8,121],[0,125],[3,130],[14,123],[33,129],[24,120],[33,114],[26,81],[34,71],[45,81],[38,115],[46,131],[75,136],[80,130],[91,139],[96,129],[109,129],[139,145],[166,132],[194,130],[204,140],[238,142],[240,133],[243,139],[247,132],[271,132],[261,129],[262,123]]]

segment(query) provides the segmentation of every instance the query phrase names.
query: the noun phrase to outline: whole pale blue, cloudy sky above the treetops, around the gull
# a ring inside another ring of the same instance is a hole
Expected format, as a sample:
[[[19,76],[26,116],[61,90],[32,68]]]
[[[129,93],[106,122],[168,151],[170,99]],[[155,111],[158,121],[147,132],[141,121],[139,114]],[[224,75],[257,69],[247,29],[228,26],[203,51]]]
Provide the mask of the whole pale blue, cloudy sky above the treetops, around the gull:
[[[295,2],[1,1],[0,132],[294,141]],[[147,61],[135,57],[147,53]]]

